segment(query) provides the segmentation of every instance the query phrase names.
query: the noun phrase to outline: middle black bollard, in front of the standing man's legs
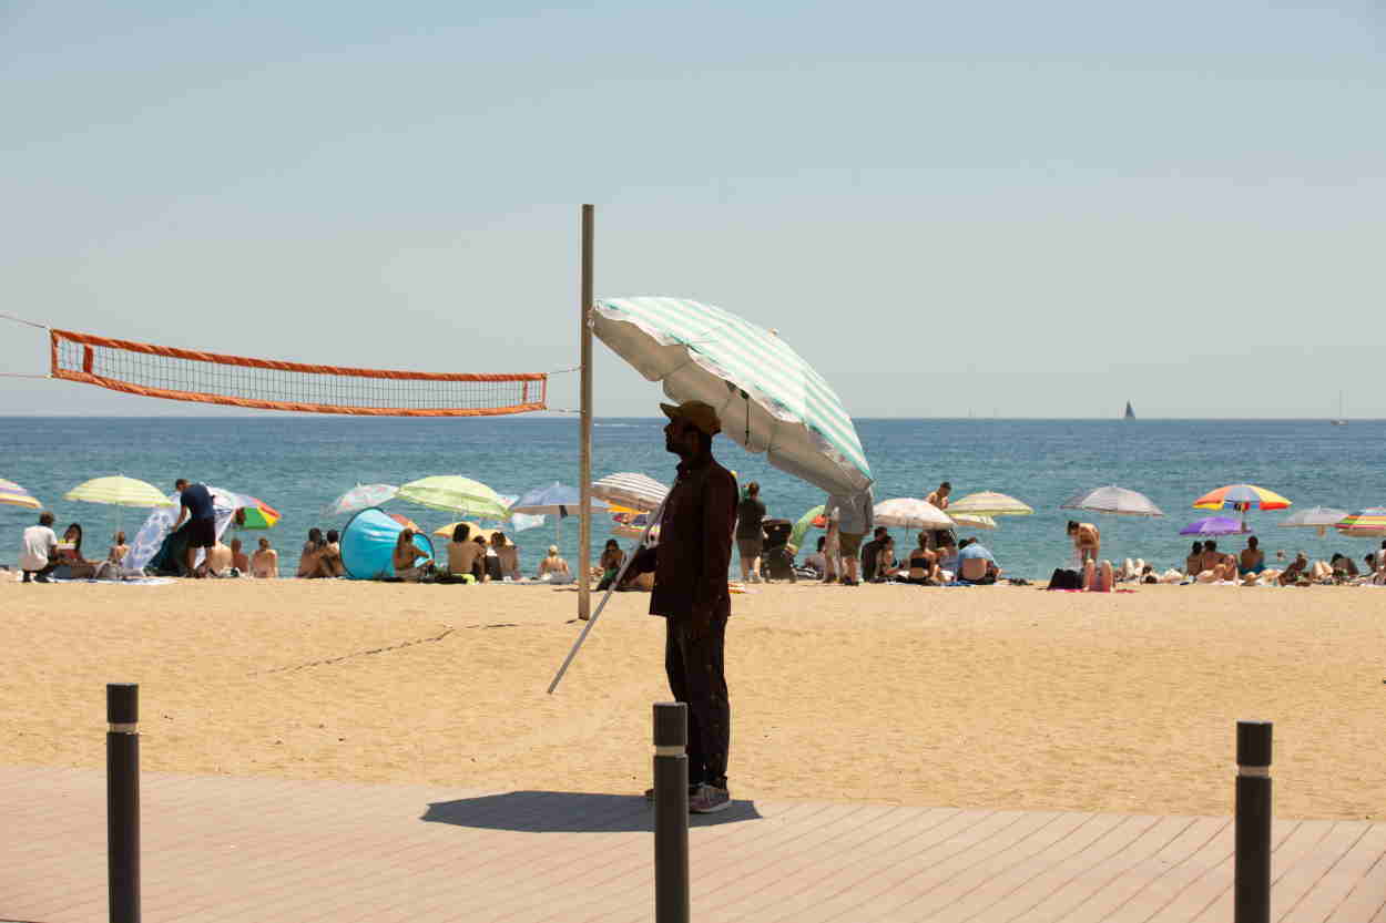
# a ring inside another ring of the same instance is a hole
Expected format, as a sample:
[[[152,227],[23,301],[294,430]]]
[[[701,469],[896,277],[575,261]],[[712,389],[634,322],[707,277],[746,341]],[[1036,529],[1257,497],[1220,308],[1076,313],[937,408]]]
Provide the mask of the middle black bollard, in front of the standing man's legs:
[[[689,710],[654,703],[654,920],[689,923]]]

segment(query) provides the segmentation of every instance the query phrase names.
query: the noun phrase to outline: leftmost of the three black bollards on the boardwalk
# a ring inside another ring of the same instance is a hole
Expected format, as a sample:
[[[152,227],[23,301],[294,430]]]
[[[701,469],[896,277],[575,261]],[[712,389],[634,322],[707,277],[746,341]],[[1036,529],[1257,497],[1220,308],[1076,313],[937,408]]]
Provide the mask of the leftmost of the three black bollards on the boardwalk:
[[[111,923],[140,923],[140,687],[108,683],[105,837]]]

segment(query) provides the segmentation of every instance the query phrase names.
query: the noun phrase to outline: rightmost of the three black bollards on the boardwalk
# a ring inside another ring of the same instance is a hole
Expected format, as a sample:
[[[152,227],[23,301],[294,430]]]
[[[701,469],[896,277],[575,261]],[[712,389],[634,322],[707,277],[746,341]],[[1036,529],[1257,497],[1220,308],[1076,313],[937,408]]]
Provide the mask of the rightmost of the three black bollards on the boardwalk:
[[[1235,923],[1271,920],[1271,722],[1236,722]]]

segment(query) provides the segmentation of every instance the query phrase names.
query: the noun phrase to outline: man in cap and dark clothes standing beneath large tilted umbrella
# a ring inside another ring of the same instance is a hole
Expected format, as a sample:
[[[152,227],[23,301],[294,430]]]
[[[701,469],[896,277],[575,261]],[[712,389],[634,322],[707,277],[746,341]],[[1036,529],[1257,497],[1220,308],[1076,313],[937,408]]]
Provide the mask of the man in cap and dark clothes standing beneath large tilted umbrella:
[[[701,401],[661,403],[668,416],[664,448],[679,456],[678,480],[664,500],[660,543],[640,550],[631,571],[654,571],[650,614],[665,619],[664,669],[674,698],[689,712],[689,809],[726,808],[726,758],[732,708],[723,647],[732,597],[736,478],[712,459],[712,437],[722,431],[717,410]]]

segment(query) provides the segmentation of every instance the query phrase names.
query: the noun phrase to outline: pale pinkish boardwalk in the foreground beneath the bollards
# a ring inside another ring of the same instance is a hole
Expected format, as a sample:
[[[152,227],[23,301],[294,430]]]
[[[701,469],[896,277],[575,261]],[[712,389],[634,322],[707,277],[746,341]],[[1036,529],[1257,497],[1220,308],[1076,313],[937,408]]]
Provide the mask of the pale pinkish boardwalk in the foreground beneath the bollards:
[[[653,919],[639,795],[146,773],[141,797],[147,923]],[[0,768],[0,920],[105,920],[101,772]],[[1274,840],[1272,919],[1386,923],[1386,823]],[[700,922],[1232,919],[1228,818],[737,801],[692,854]]]

